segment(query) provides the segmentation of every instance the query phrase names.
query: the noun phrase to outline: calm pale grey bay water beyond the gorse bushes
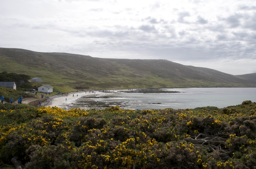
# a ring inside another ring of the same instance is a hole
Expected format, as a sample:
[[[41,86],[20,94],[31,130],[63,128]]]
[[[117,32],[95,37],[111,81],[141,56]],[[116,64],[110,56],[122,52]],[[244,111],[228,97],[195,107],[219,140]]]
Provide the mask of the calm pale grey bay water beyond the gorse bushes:
[[[113,93],[110,98],[97,101],[119,102],[125,109],[194,109],[216,106],[223,108],[239,105],[245,100],[256,101],[256,88],[169,88],[180,93]],[[115,104],[116,105],[116,104]]]

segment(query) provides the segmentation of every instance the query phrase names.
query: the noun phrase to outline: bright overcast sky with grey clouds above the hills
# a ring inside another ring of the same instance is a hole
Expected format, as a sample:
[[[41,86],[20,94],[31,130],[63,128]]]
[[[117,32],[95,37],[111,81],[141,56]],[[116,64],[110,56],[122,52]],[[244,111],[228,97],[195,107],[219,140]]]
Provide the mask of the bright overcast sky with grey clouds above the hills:
[[[255,0],[0,0],[0,47],[256,73]]]

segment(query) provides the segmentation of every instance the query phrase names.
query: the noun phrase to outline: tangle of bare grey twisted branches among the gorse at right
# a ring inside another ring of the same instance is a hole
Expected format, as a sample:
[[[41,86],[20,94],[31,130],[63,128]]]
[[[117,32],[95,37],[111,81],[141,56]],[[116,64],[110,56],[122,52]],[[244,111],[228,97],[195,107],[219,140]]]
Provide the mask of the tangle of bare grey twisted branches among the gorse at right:
[[[230,150],[226,149],[228,144],[227,138],[224,134],[206,135],[199,133],[196,136],[190,136],[191,138],[185,138],[183,140],[192,142],[195,146],[208,147],[212,152],[218,152],[220,160],[227,160],[230,158]]]

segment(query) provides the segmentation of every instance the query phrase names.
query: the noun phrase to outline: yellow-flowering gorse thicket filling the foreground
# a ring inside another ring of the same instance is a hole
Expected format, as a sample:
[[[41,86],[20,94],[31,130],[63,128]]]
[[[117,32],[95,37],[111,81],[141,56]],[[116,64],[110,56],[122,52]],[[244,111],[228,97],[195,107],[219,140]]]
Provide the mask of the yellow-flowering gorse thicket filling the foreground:
[[[63,110],[0,105],[0,166],[256,166],[256,103],[223,109]]]

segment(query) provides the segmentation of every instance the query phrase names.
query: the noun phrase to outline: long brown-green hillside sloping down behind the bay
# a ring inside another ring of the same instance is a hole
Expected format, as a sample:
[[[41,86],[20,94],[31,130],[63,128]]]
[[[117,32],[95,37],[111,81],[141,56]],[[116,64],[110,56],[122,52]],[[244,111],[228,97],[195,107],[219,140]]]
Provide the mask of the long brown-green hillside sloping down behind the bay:
[[[0,71],[40,77],[77,89],[133,87],[256,87],[256,73],[231,75],[168,60],[105,59],[0,48]]]

